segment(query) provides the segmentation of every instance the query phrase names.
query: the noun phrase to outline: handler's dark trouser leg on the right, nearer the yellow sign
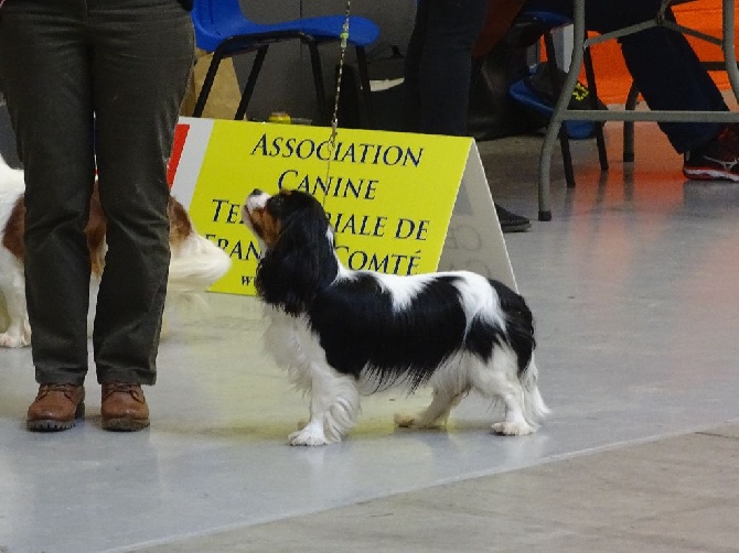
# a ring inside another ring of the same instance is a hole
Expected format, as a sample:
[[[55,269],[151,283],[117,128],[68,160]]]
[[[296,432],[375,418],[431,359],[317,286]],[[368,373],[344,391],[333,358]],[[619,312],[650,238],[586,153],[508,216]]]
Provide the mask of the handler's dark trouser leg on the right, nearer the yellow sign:
[[[108,217],[93,335],[97,378],[152,384],[170,259],[167,160],[193,64],[193,30],[176,0],[87,4]]]

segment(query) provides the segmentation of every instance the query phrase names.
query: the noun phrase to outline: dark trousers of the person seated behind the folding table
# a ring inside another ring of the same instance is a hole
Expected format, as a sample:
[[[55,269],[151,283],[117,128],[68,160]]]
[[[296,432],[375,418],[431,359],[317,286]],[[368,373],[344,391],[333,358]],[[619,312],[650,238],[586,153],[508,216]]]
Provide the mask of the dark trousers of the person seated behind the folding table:
[[[599,33],[654,19],[661,0],[593,0],[586,26]],[[525,9],[572,14],[571,0],[529,0]],[[674,21],[672,11],[667,17]],[[646,105],[655,110],[728,111],[720,90],[681,33],[652,28],[619,40],[629,73]],[[597,47],[597,46],[596,46]],[[596,74],[598,68],[596,67]],[[679,153],[716,137],[725,123],[665,122],[660,128]]]

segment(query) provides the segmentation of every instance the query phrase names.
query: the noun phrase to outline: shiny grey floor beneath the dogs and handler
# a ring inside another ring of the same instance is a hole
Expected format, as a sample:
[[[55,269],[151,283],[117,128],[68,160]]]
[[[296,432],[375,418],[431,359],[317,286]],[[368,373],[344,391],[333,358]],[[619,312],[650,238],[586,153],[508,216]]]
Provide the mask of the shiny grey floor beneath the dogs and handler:
[[[739,185],[685,182],[654,124],[636,163],[557,161],[554,220],[506,235],[537,316],[539,433],[393,427],[428,397],[363,402],[335,446],[286,445],[306,400],[260,349],[259,308],[208,295],[170,317],[152,427],[23,430],[30,353],[0,351],[0,552],[739,551]],[[480,144],[495,198],[535,216],[540,139]]]

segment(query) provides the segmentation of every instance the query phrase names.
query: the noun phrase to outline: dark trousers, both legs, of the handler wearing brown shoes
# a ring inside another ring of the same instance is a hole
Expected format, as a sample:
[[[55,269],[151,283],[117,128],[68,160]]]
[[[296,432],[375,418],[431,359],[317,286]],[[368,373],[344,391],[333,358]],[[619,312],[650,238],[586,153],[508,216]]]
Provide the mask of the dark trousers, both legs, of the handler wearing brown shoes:
[[[97,167],[108,217],[93,334],[99,382],[151,384],[167,294],[167,159],[193,65],[178,0],[8,0],[0,85],[25,170],[25,281],[40,383],[87,372]]]

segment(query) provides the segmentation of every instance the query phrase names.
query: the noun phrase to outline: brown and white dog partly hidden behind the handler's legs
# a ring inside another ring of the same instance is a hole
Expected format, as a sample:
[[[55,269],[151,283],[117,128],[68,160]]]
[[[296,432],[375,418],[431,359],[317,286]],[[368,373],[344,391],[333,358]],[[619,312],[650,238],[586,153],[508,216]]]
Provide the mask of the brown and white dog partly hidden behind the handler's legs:
[[[4,300],[0,302],[0,347],[23,347],[31,343],[23,273],[24,192],[23,171],[10,167],[0,156],[0,293]],[[231,259],[221,248],[195,231],[184,206],[173,196],[170,196],[167,212],[172,252],[168,304],[172,300],[192,301],[193,294],[204,292],[223,276],[231,267]],[[107,219],[96,186],[90,199],[89,221],[85,228],[93,272],[90,306],[95,305],[94,300],[105,268],[106,226]]]

